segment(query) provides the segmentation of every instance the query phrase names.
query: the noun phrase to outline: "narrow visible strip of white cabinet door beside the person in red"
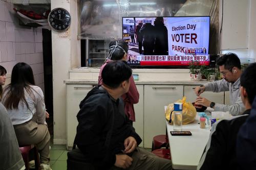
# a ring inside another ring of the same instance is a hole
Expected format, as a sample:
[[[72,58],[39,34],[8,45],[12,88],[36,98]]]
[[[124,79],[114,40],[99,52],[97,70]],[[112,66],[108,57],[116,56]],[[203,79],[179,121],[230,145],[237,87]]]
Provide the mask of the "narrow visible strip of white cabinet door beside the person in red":
[[[143,141],[144,85],[136,85],[136,87],[140,94],[140,99],[139,99],[139,103],[134,105],[135,122],[133,123],[133,127],[135,128],[136,133],[138,133],[140,138],[142,139],[142,142],[140,143],[139,147],[144,147],[144,145],[143,145],[143,142],[144,142]]]

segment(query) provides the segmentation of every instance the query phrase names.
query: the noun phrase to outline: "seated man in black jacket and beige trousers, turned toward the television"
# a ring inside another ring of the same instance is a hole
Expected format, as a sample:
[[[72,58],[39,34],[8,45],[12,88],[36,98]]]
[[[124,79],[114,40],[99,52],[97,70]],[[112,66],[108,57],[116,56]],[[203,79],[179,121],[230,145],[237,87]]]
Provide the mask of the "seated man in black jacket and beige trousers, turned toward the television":
[[[141,138],[124,113],[120,96],[129,90],[132,69],[122,61],[106,64],[102,86],[80,103],[76,144],[99,169],[171,169],[170,160],[138,148]]]

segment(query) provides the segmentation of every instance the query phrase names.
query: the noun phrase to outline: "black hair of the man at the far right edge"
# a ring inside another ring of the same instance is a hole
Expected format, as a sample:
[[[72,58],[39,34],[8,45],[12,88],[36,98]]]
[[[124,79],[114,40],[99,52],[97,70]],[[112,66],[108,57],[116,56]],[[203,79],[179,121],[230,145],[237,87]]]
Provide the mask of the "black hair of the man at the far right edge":
[[[243,71],[240,82],[247,92],[249,103],[252,104],[256,95],[256,63],[250,64]]]

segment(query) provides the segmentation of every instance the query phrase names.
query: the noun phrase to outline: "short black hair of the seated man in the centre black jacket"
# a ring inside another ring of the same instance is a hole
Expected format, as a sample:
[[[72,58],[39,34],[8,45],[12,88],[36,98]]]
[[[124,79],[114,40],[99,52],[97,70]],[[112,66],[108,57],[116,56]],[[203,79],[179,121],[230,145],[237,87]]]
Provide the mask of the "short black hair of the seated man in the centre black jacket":
[[[102,81],[111,88],[117,88],[123,81],[129,81],[132,69],[125,61],[113,61],[102,70]]]

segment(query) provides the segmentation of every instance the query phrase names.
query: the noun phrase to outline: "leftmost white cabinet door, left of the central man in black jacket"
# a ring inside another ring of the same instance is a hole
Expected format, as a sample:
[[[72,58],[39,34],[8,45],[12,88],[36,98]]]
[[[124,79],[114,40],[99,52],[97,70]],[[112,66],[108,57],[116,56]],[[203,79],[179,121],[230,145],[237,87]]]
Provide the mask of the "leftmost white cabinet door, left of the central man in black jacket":
[[[79,104],[92,88],[93,85],[67,85],[67,147],[73,147]]]

